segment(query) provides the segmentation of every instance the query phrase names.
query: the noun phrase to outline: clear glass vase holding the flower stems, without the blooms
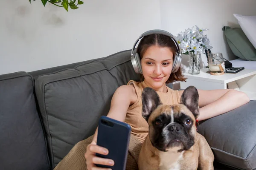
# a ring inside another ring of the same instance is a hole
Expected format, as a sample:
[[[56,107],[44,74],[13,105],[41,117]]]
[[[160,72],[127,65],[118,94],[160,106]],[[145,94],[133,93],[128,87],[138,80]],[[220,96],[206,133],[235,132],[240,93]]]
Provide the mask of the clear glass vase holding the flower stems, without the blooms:
[[[200,58],[200,53],[195,54],[194,52],[189,52],[189,74],[200,73]]]

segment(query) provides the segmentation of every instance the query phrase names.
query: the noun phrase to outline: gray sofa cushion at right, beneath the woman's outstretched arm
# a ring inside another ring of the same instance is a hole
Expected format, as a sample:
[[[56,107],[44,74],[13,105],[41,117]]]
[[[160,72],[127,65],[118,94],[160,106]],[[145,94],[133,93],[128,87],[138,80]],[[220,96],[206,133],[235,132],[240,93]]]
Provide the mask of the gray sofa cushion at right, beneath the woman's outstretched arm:
[[[256,100],[198,126],[215,161],[241,170],[256,169]]]

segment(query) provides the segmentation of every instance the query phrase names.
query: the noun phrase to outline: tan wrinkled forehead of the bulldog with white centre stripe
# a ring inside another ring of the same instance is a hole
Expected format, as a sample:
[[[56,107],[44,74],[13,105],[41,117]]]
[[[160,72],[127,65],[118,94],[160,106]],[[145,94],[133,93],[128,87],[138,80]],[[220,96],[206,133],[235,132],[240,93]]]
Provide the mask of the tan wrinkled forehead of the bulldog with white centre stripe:
[[[184,115],[195,120],[191,111],[184,105],[161,105],[149,116],[148,122],[154,122],[159,117],[169,118],[170,122],[175,122],[175,119]]]

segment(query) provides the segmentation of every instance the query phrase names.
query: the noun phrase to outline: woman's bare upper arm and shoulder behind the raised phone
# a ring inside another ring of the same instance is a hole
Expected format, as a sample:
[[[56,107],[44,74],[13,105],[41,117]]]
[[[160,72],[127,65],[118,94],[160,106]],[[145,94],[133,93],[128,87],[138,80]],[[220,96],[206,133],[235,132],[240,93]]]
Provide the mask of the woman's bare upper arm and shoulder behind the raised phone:
[[[123,122],[129,106],[135,103],[137,94],[134,86],[122,85],[116,89],[111,99],[111,106],[107,117]],[[97,141],[98,127],[94,133],[93,141]]]

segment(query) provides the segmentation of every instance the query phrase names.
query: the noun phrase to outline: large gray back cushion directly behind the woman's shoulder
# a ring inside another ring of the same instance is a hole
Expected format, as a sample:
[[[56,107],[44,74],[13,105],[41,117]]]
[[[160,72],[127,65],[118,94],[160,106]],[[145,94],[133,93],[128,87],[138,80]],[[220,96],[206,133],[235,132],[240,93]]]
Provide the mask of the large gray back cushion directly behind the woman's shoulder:
[[[122,51],[35,80],[54,166],[77,142],[93,135],[99,117],[110,109],[116,88],[130,79],[140,80],[130,58],[131,50]]]

